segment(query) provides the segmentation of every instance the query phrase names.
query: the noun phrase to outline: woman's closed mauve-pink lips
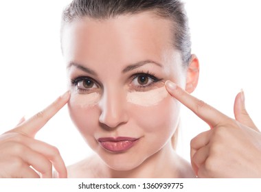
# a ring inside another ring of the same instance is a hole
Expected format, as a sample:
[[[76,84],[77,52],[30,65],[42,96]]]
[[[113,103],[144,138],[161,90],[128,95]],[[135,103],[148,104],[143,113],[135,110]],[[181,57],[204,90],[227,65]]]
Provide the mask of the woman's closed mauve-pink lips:
[[[110,152],[124,152],[137,143],[137,138],[132,137],[103,137],[99,138],[100,145]]]

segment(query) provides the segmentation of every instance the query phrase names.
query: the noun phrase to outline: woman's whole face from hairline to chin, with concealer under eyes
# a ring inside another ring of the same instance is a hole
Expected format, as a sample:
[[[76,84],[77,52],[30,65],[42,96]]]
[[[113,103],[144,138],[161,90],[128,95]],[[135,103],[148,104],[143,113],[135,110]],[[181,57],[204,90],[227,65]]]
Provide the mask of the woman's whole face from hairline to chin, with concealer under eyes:
[[[171,23],[152,12],[84,18],[63,29],[73,123],[89,146],[115,170],[153,158],[179,121],[179,103],[164,86],[185,85]]]

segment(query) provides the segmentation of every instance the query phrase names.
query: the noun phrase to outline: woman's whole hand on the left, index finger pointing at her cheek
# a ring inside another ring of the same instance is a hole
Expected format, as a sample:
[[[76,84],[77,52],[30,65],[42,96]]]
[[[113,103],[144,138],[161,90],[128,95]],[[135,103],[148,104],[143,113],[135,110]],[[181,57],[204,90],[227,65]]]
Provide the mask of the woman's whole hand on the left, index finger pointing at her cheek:
[[[52,166],[59,178],[67,178],[67,169],[58,149],[37,141],[34,136],[65,106],[69,97],[70,93],[65,93],[45,110],[0,136],[0,178],[40,178],[36,171],[41,173],[41,178],[52,178]]]

